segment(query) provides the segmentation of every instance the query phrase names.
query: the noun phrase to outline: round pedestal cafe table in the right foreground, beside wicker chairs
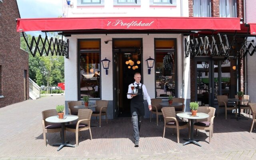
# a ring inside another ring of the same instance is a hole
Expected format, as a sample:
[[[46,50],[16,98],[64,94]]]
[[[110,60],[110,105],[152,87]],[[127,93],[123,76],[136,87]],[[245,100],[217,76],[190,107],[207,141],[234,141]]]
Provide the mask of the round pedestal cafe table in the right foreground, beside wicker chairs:
[[[190,139],[184,139],[187,140],[187,142],[183,143],[183,146],[189,143],[194,143],[198,146],[202,146],[201,144],[199,144],[196,141],[199,140],[194,140],[194,135],[193,135],[193,131],[194,131],[194,120],[198,120],[198,119],[204,119],[204,118],[208,118],[209,115],[206,113],[196,113],[196,116],[192,116],[191,112],[180,112],[176,114],[178,117],[181,118],[187,118],[190,119]]]

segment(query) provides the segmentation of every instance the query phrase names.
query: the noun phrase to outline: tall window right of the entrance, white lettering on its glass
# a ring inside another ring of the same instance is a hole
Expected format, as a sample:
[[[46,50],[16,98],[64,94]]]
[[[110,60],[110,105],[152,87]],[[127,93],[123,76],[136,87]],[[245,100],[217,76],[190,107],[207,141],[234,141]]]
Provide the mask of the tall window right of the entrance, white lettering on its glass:
[[[176,96],[176,39],[155,39],[156,97]]]

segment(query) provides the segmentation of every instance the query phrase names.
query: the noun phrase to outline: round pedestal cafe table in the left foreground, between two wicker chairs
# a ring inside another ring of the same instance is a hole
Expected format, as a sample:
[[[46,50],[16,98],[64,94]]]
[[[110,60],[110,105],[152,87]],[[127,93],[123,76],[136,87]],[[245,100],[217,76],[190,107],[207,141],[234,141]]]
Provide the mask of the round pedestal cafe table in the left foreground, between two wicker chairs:
[[[61,143],[53,144],[53,146],[59,146],[57,151],[59,151],[61,148],[64,146],[68,147],[75,147],[75,145],[68,144],[68,142],[65,142],[65,137],[64,137],[64,130],[65,130],[65,122],[71,122],[74,120],[78,119],[78,116],[75,115],[64,115],[66,117],[65,119],[59,119],[59,116],[51,116],[46,118],[46,122],[51,122],[51,123],[60,123],[61,124]]]

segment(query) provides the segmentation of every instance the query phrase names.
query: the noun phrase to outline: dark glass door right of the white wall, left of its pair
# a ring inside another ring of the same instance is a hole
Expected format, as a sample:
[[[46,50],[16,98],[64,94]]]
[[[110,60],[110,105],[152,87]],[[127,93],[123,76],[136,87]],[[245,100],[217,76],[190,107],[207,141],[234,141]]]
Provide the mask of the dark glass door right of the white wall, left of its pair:
[[[214,99],[212,87],[212,61],[198,59],[195,61],[196,99],[200,106],[212,106]]]

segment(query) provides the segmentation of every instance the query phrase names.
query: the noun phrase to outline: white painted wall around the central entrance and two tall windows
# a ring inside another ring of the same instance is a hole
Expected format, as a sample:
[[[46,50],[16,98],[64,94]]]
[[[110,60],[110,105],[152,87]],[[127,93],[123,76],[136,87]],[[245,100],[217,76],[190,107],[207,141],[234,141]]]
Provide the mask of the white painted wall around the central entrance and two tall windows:
[[[155,98],[155,70],[152,68],[151,74],[148,74],[148,68],[145,60],[151,56],[154,58],[154,38],[176,38],[177,39],[177,60],[178,60],[178,96],[182,97],[182,70],[183,62],[182,56],[182,36],[181,34],[86,34],[86,35],[72,35],[71,37],[66,37],[69,39],[69,54],[70,58],[65,58],[65,99],[66,101],[78,100],[78,82],[77,82],[77,42],[78,39],[86,38],[100,38],[101,39],[101,60],[105,57],[109,59],[110,69],[108,70],[108,75],[106,75],[103,67],[101,68],[101,87],[102,87],[102,99],[103,100],[113,100],[113,57],[112,57],[112,41],[109,41],[108,44],[105,44],[104,41],[112,40],[112,38],[142,38],[143,43],[143,79],[144,84],[147,87],[148,94],[150,98]],[[189,62],[187,62],[189,66]],[[188,68],[186,67],[186,72]],[[185,88],[187,88],[186,95],[190,96],[190,74],[185,74]],[[189,89],[189,90],[188,90]],[[189,92],[189,93],[187,93]]]

